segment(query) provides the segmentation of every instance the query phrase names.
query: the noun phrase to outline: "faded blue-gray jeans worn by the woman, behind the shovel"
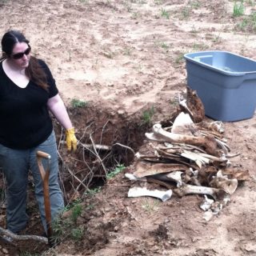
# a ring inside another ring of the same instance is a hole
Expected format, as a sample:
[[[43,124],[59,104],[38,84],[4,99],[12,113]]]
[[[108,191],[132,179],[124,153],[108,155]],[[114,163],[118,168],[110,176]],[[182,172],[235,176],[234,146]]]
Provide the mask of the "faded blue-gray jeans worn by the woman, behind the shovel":
[[[46,214],[43,199],[42,178],[38,170],[36,152],[41,150],[50,154],[50,206],[51,219],[57,217],[64,208],[62,190],[58,183],[58,153],[54,131],[45,142],[29,150],[12,150],[0,144],[0,167],[7,182],[7,229],[16,233],[26,227],[28,216],[26,214],[26,186],[28,182],[28,172],[34,178],[35,196],[38,202],[42,225],[46,230]],[[42,160],[42,165],[46,170],[46,159]]]

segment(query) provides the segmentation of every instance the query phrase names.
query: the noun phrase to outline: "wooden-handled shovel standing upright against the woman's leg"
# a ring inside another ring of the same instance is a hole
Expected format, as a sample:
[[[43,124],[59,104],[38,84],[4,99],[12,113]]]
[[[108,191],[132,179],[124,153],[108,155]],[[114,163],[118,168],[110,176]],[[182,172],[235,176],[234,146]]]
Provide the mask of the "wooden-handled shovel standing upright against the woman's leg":
[[[42,158],[48,160],[47,169],[44,170],[42,166]],[[38,159],[38,168],[41,174],[42,183],[43,183],[43,197],[45,202],[45,211],[46,211],[46,228],[47,228],[47,238],[49,246],[53,246],[52,241],[52,229],[50,226],[51,217],[50,217],[50,195],[49,195],[49,176],[50,176],[50,154],[47,154],[42,151],[37,152]]]

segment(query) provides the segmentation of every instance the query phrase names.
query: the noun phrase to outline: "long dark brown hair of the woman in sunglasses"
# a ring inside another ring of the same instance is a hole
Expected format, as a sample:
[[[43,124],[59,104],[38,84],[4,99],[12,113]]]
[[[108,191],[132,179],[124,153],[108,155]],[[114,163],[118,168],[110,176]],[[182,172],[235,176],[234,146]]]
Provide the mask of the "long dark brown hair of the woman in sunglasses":
[[[25,38],[25,36],[18,30],[9,30],[2,37],[2,58],[10,58],[14,50],[14,46],[17,42],[26,42],[28,46],[30,41]],[[26,67],[26,75],[30,80],[36,83],[38,86],[41,86],[43,89],[47,90],[47,78],[46,73],[42,69],[42,66],[38,63],[38,59],[31,56],[29,66]]]

